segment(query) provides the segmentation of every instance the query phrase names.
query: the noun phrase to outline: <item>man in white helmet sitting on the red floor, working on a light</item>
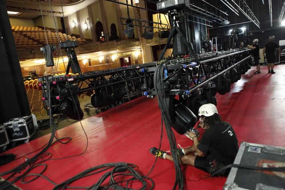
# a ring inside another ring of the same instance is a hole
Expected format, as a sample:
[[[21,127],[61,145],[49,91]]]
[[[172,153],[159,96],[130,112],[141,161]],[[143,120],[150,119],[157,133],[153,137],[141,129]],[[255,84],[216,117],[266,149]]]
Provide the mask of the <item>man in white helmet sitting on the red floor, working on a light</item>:
[[[185,149],[178,148],[180,164],[186,164],[201,169],[207,173],[213,173],[209,170],[210,162],[217,160],[223,165],[233,164],[238,152],[237,136],[232,126],[224,121],[218,114],[217,108],[213,104],[204,104],[200,107],[198,115],[200,123],[197,128],[205,129],[205,132],[198,140],[196,133],[190,132],[188,136],[193,139],[194,144]],[[196,154],[190,154],[194,153]],[[165,151],[151,148],[150,153],[159,158],[167,159],[173,162],[173,158]],[[208,168],[207,168],[208,167]],[[230,169],[224,173],[227,175]]]

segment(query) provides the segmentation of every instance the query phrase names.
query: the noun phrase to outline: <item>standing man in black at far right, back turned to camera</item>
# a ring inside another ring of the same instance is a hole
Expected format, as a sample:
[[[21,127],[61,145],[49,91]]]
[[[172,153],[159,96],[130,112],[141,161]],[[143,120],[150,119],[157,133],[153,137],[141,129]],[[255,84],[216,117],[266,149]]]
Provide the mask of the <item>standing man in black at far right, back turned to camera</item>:
[[[266,53],[268,73],[271,73],[271,74],[275,73],[273,71],[273,68],[274,68],[274,63],[275,63],[275,50],[276,50],[276,48],[279,52],[279,57],[281,56],[280,46],[277,42],[273,41],[274,38],[275,38],[275,36],[270,36],[269,42],[265,43],[264,49],[263,49],[263,57],[264,57],[264,53]],[[270,65],[271,65],[271,71],[270,71]]]

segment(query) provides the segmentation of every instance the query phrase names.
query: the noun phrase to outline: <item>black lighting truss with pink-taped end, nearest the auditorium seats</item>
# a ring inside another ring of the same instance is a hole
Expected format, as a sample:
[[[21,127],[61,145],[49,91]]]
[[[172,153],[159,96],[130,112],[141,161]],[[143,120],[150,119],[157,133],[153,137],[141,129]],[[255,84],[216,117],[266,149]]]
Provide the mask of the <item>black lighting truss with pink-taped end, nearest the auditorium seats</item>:
[[[52,77],[42,77],[38,81],[42,81],[42,88],[46,89],[48,80],[52,81],[53,87],[51,88],[51,98],[55,100],[64,99],[76,94],[83,93],[91,90],[101,89],[103,87],[116,85],[119,83],[140,79],[141,83],[146,84],[146,89],[150,90],[148,83],[144,81],[147,75],[148,78],[153,78],[151,73],[140,73],[139,70],[156,66],[156,62],[124,66],[109,70],[102,71],[90,71],[80,75],[58,75]],[[102,84],[104,81],[104,85]],[[68,87],[71,86],[71,89]],[[84,87],[87,84],[87,87]],[[43,97],[47,99],[47,92],[43,94]]]

